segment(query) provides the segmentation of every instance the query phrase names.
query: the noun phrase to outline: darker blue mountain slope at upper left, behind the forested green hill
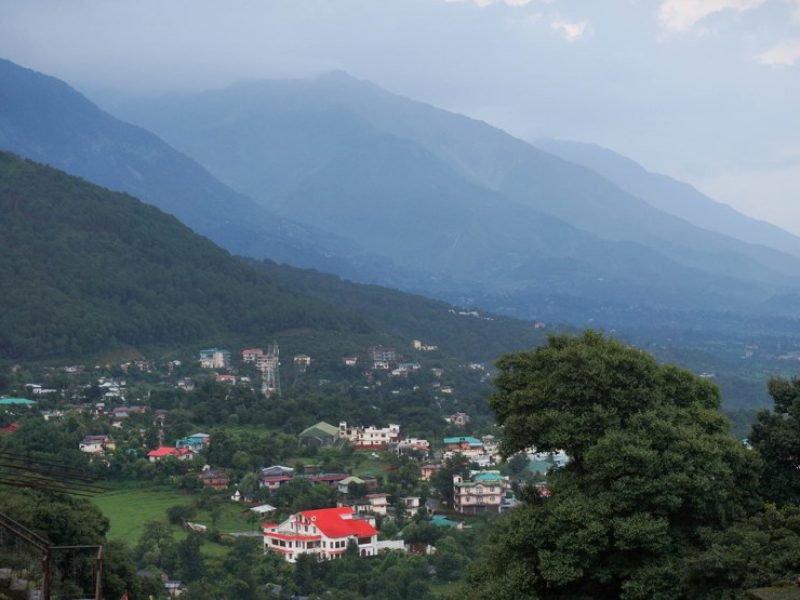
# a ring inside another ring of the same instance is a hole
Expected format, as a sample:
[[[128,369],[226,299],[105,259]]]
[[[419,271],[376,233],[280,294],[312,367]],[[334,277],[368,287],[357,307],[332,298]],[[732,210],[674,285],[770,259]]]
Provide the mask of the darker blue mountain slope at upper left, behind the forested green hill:
[[[346,270],[358,253],[235,192],[163,140],[100,110],[69,85],[0,59],[0,150],[127,192],[232,252]]]

